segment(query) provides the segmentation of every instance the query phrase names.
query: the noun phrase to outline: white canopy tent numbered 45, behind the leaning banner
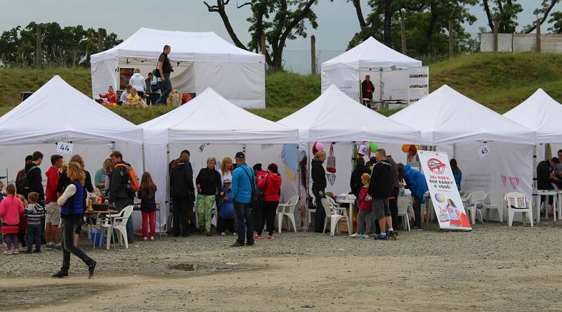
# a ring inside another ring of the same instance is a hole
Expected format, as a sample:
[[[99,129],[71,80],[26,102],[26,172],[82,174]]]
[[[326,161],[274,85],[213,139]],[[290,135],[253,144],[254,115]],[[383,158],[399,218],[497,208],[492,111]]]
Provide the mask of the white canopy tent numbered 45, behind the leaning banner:
[[[535,131],[441,86],[390,117],[421,131],[421,143],[455,157],[462,190],[532,193]],[[486,148],[488,152],[482,152]]]

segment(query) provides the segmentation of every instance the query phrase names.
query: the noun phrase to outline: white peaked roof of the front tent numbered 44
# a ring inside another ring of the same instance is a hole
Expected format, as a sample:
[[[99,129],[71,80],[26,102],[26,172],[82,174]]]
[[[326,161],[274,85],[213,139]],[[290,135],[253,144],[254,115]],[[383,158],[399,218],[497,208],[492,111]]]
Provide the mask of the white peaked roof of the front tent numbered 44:
[[[55,76],[0,117],[0,144],[129,141],[143,131]]]

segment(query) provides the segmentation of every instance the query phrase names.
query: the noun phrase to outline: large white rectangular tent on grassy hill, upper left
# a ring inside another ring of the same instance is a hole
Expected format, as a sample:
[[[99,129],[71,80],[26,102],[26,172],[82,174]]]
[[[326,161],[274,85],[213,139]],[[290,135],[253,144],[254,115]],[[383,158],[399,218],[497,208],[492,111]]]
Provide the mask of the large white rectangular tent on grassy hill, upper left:
[[[171,46],[174,90],[195,92],[214,88],[245,108],[266,107],[265,58],[245,51],[214,32],[178,32],[141,28],[121,44],[91,56],[92,93],[119,88],[119,72],[140,68],[144,76],[156,68],[164,45]]]

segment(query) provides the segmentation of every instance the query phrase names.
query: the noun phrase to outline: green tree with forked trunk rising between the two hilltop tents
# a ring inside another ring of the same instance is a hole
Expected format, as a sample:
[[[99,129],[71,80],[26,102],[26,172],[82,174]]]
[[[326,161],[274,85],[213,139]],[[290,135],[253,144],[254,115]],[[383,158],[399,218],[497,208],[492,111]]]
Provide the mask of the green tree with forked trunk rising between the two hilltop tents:
[[[206,1],[203,3],[209,12],[216,12],[221,16],[230,39],[237,47],[248,51],[263,51],[266,63],[273,69],[282,69],[283,49],[287,41],[307,37],[306,22],[313,29],[318,27],[312,10],[318,0],[251,0],[237,6],[251,7],[251,16],[247,18],[250,22],[251,41],[242,44],[226,13],[229,2],[230,0],[216,0],[214,5],[209,5]],[[265,46],[261,46],[262,34],[266,36]]]

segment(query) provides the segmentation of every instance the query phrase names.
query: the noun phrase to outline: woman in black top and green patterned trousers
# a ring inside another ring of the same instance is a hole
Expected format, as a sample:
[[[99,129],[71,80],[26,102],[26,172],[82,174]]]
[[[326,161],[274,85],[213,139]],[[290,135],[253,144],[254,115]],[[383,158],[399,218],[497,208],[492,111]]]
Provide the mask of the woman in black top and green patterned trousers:
[[[223,195],[221,175],[215,170],[216,160],[214,157],[207,159],[207,168],[201,169],[195,183],[197,183],[197,216],[199,226],[205,227],[207,236],[211,236],[211,212],[215,204],[215,195]]]

